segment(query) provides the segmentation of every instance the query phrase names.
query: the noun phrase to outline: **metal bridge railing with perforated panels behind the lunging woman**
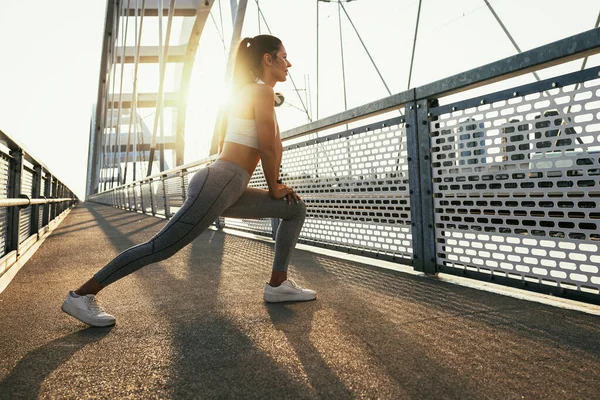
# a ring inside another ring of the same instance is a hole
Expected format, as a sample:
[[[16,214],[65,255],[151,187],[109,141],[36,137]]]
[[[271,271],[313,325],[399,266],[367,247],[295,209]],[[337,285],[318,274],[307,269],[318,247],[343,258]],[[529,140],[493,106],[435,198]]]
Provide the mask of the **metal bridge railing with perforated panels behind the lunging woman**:
[[[308,206],[300,241],[600,302],[600,69],[438,105],[598,52],[594,29],[282,133],[282,177]],[[90,200],[170,217],[211,161]],[[250,186],[266,187],[261,168]]]

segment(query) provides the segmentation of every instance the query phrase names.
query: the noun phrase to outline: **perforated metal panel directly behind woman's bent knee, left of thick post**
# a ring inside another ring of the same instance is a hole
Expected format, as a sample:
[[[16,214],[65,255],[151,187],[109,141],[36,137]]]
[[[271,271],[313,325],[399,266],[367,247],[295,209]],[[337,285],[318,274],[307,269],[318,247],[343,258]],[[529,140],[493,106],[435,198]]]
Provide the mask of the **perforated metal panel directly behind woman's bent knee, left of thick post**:
[[[285,148],[281,177],[307,204],[301,241],[411,259],[406,133],[394,122]],[[250,186],[267,187],[260,166]],[[226,226],[271,235],[270,220]]]

